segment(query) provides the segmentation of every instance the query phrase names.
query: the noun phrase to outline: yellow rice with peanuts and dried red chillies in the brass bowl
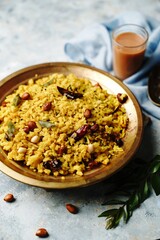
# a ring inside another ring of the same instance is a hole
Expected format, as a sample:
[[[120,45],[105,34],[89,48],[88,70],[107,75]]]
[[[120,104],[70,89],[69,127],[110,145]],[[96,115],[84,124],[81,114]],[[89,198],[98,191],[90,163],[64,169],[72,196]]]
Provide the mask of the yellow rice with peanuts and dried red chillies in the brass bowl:
[[[0,145],[8,159],[53,176],[107,165],[123,151],[127,126],[116,95],[73,74],[30,79],[0,106]]]

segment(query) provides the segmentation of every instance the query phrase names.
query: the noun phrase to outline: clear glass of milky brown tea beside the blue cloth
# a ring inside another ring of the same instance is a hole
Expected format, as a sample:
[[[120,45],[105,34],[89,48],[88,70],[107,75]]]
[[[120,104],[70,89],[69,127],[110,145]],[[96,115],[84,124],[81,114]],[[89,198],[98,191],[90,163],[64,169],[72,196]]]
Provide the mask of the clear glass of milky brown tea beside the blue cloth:
[[[144,60],[148,32],[145,28],[125,24],[112,33],[113,71],[120,80],[137,72]]]

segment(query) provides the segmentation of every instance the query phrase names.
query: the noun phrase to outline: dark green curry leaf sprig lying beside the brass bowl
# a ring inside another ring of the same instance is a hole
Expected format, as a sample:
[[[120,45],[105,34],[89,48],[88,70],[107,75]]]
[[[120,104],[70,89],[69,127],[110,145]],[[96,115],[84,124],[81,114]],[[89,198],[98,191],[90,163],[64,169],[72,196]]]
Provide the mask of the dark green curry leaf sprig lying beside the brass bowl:
[[[127,183],[117,189],[114,199],[103,204],[119,207],[108,209],[99,215],[106,218],[106,229],[116,228],[122,220],[127,223],[133,211],[140,207],[152,191],[156,195],[160,194],[160,155],[150,162],[136,159],[131,168],[128,166],[125,171],[129,173]]]

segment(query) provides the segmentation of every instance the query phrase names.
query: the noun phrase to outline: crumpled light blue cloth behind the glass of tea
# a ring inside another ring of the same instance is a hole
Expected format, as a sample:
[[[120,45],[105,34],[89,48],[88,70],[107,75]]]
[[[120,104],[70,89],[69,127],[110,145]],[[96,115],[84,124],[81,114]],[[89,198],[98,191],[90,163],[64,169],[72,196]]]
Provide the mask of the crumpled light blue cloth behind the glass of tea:
[[[160,63],[160,23],[140,12],[127,12],[104,23],[86,27],[64,46],[66,55],[75,62],[103,69],[112,73],[111,33],[123,24],[143,26],[149,33],[145,60],[142,68],[123,82],[139,101],[143,112],[160,119],[160,108],[148,98],[148,75],[154,65]]]

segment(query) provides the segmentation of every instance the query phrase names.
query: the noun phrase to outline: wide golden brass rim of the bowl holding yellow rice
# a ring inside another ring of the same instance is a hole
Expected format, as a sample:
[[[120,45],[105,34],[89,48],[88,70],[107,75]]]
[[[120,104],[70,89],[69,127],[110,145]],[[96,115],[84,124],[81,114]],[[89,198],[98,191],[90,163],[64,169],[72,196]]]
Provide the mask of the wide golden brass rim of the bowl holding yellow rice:
[[[61,176],[54,177],[36,173],[15,161],[9,161],[5,152],[0,148],[0,170],[20,182],[46,189],[84,187],[100,182],[122,169],[133,158],[141,144],[143,117],[139,103],[123,82],[111,74],[84,64],[67,62],[38,64],[7,76],[0,81],[0,103],[3,102],[6,95],[10,94],[20,84],[26,83],[30,78],[35,76],[42,77],[53,73],[65,75],[73,73],[77,77],[98,82],[109,93],[124,93],[128,95],[128,100],[124,104],[129,118],[129,125],[123,144],[124,151],[113,156],[110,163],[106,166],[103,165],[89,170],[83,176],[68,175],[63,178]]]

